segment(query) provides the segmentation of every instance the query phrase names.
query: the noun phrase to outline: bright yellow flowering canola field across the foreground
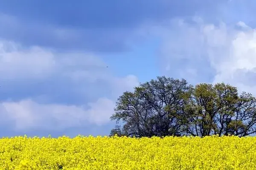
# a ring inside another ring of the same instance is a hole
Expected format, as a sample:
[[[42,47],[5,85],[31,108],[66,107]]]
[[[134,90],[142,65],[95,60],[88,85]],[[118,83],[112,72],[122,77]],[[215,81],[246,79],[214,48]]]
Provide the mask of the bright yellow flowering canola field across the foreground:
[[[256,137],[1,138],[0,170],[256,170]]]

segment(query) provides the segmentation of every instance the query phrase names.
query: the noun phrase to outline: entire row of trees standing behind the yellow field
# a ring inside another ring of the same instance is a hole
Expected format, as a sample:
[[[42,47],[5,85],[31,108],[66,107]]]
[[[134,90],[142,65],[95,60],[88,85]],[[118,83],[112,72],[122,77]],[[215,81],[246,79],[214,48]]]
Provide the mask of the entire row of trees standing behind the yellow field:
[[[119,96],[110,119],[110,136],[242,137],[256,133],[256,98],[223,82],[193,86],[163,76]]]

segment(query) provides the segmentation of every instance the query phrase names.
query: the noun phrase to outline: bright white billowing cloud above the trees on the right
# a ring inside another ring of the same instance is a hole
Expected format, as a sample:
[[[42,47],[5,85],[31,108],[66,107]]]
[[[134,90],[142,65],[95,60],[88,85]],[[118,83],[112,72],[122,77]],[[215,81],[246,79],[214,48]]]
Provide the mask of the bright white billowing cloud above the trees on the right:
[[[256,94],[255,29],[241,21],[214,25],[202,20],[172,20],[167,27],[154,31],[163,37],[165,72],[173,75],[176,71],[177,77],[189,82],[226,82]]]

